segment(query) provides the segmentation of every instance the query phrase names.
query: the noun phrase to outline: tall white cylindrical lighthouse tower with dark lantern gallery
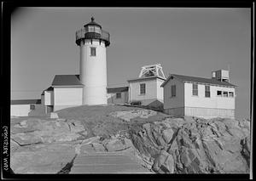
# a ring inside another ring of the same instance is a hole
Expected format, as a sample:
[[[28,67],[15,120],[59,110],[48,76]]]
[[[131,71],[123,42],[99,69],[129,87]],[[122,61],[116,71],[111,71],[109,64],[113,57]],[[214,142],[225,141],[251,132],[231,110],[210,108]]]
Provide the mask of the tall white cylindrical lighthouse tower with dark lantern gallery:
[[[94,18],[76,32],[80,48],[80,82],[84,84],[83,105],[107,104],[107,59],[109,33]]]

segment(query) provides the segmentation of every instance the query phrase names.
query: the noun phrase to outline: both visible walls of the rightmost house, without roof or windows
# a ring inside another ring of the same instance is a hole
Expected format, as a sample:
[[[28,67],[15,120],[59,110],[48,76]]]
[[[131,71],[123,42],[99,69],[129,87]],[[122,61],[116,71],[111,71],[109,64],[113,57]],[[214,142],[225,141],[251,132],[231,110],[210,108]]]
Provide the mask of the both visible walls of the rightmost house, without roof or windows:
[[[171,88],[176,85],[176,97]],[[198,84],[198,96],[192,95],[193,83],[169,80],[164,87],[164,109],[175,116],[201,116],[204,118],[235,116],[235,88],[210,85],[210,97],[205,97],[205,84]],[[217,91],[233,92],[234,97],[219,97]]]

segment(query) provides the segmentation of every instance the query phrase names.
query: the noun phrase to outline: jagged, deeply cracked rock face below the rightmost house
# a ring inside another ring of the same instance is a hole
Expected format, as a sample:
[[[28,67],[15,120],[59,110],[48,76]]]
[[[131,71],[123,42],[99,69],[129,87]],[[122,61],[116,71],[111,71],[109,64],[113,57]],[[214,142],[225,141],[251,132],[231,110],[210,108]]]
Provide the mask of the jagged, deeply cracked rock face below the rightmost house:
[[[248,173],[250,122],[166,118],[131,127],[132,143],[157,173]]]

